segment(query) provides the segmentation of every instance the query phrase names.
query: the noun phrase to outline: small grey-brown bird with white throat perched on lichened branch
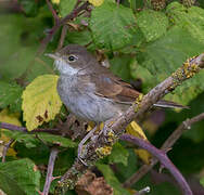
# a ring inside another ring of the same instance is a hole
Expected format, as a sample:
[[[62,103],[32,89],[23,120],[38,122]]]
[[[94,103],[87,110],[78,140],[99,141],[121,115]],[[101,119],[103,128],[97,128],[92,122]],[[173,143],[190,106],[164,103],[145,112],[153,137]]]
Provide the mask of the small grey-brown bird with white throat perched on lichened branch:
[[[68,44],[59,52],[47,55],[54,60],[60,72],[58,92],[62,102],[81,119],[104,122],[116,118],[140,95],[129,83],[100,65],[81,46]],[[183,107],[163,100],[154,105]],[[82,141],[85,142],[86,140]]]

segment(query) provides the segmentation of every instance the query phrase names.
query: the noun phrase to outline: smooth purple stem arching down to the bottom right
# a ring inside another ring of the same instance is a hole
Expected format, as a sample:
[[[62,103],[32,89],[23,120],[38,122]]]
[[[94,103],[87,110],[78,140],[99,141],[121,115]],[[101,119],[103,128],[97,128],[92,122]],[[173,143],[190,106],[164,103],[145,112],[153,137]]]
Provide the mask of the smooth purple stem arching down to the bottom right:
[[[120,135],[120,139],[124,141],[131,142],[141,148],[146,150],[150,152],[153,156],[155,156],[166,169],[169,170],[169,172],[174,176],[175,180],[178,182],[179,186],[181,187],[184,195],[192,195],[192,191],[189,187],[188,183],[186,182],[182,174],[179,172],[179,170],[175,167],[175,165],[168,159],[166,153],[164,151],[161,151],[150,144],[146,141],[143,141],[142,139],[136,138],[130,134],[123,134]]]

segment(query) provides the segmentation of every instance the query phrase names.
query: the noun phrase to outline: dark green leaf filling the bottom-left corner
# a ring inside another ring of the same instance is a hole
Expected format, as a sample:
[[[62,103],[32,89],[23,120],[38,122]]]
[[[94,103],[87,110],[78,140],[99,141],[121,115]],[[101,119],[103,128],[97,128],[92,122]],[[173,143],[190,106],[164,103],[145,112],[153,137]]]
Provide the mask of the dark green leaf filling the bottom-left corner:
[[[9,195],[38,194],[40,172],[36,165],[25,158],[0,162],[0,188]]]

